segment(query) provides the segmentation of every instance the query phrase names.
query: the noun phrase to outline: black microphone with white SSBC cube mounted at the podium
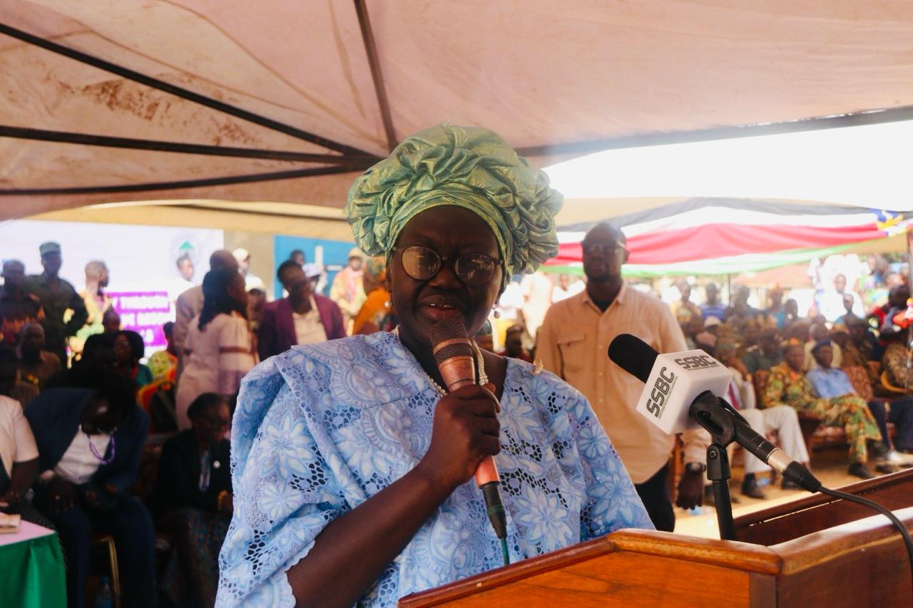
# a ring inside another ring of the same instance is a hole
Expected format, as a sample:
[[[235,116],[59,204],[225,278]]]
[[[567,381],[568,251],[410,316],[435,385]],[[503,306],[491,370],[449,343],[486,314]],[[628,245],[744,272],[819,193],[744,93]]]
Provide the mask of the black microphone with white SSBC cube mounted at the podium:
[[[736,442],[800,487],[817,492],[821,482],[785,452],[759,435],[719,397],[732,378],[729,369],[704,351],[659,354],[629,333],[609,345],[609,359],[644,382],[637,411],[672,435],[703,427],[711,435],[732,429]]]

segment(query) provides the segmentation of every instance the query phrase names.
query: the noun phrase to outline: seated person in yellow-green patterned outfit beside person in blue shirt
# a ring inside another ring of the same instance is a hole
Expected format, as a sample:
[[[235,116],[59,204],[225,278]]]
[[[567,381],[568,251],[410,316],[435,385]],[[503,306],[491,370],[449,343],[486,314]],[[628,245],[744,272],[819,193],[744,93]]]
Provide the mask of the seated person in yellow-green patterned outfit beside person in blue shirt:
[[[761,404],[771,408],[790,405],[800,413],[821,418],[824,426],[840,426],[849,443],[849,473],[868,479],[872,472],[866,466],[868,451],[880,455],[884,446],[875,418],[866,402],[855,395],[836,398],[818,397],[803,372],[805,353],[802,343],[789,341],[783,349],[784,362],[771,368],[771,376],[761,397]]]

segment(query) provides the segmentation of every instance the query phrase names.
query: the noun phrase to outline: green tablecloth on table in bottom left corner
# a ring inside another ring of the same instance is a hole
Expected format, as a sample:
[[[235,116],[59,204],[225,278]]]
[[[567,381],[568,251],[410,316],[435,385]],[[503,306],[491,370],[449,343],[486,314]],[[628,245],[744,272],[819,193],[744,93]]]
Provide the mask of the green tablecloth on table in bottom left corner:
[[[22,522],[23,527],[26,525],[31,526]],[[20,529],[20,534],[23,531],[26,530]],[[7,539],[0,538],[4,540]],[[8,540],[13,541],[0,544],[0,605],[64,608],[67,579],[57,534]]]

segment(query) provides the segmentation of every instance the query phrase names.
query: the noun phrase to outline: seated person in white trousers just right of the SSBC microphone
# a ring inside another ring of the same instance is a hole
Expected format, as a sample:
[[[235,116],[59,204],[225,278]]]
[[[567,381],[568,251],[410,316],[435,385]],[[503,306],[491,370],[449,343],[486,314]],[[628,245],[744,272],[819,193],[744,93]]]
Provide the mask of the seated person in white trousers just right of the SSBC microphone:
[[[802,427],[799,425],[799,414],[789,405],[776,405],[771,408],[759,409],[755,405],[754,385],[751,383],[748,369],[736,356],[735,344],[731,341],[719,341],[715,358],[729,367],[732,372],[730,383],[729,402],[739,410],[740,414],[758,435],[766,436],[777,434],[779,446],[793,460],[805,466],[809,463],[808,449],[802,436]],[[758,486],[757,474],[771,470],[757,456],[745,453],[745,477],[742,480],[741,493],[749,498],[767,498],[761,487]],[[788,479],[782,480],[783,489],[795,489],[798,486]]]

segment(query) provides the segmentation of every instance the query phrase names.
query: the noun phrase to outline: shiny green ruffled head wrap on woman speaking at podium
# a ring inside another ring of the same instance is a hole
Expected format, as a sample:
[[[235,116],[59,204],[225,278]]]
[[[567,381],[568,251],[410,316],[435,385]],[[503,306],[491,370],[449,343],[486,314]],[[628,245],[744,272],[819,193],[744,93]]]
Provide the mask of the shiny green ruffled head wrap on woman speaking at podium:
[[[440,124],[415,133],[355,180],[345,215],[369,256],[387,255],[415,215],[445,204],[469,209],[495,233],[510,276],[558,253],[561,193],[488,129]]]

